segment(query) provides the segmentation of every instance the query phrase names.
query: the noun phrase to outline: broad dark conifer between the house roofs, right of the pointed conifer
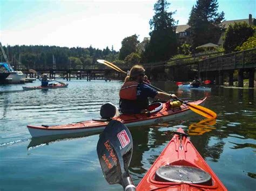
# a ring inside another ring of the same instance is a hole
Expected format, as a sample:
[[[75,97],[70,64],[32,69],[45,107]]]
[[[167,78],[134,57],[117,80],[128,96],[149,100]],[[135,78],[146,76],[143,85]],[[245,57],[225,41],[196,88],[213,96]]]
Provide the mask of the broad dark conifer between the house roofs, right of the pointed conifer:
[[[190,25],[190,37],[192,49],[206,43],[217,44],[224,20],[224,12],[218,13],[217,0],[197,0],[192,6],[188,25]]]

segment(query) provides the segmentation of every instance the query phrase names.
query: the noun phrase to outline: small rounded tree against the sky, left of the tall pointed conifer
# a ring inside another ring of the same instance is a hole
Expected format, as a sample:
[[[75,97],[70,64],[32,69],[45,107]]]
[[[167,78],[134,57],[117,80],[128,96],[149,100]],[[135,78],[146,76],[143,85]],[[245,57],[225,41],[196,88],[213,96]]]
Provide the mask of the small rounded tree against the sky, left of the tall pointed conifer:
[[[139,44],[138,36],[133,34],[133,36],[126,37],[122,40],[122,47],[119,51],[119,60],[124,60],[125,57],[133,52],[136,52],[136,48]]]

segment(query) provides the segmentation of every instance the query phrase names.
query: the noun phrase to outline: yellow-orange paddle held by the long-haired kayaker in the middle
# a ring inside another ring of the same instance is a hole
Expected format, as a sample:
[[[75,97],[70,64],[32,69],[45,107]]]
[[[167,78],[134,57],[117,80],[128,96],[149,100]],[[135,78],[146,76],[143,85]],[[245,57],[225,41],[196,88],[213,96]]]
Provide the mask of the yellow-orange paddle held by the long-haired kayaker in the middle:
[[[117,70],[118,72],[122,72],[124,74],[127,74],[126,72],[124,72],[122,69],[120,69],[119,67],[117,67],[116,65],[114,65],[113,63],[111,62],[108,62],[108,61],[105,61],[105,60],[97,60],[99,63],[103,63],[104,65],[106,66],[109,66],[111,68],[113,68],[114,70]],[[146,83],[146,82],[143,82],[145,84],[147,84],[147,86],[150,86],[158,91],[161,91],[163,93],[166,93],[164,90],[161,90],[157,87],[154,87],[152,86],[151,84],[149,83]],[[166,93],[168,94],[168,93]],[[217,114],[215,114],[214,111],[210,110],[210,109],[207,109],[203,106],[200,106],[200,105],[194,105],[194,104],[190,104],[190,103],[187,103],[187,102],[184,102],[182,100],[180,100],[179,98],[174,98],[174,100],[178,100],[180,101],[181,103],[187,105],[192,111],[196,112],[197,114],[201,115],[201,116],[204,116],[206,118],[216,118],[217,117]]]

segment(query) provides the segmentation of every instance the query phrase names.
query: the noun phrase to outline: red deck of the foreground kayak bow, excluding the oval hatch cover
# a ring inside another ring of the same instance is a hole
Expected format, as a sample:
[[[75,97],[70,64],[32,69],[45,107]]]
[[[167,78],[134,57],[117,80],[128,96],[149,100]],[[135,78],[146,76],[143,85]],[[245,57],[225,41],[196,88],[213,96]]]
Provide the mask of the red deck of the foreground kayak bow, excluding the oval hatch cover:
[[[181,128],[178,129],[178,132],[184,133]],[[190,140],[183,136],[181,144],[182,147],[180,148],[180,138],[178,135],[174,135],[142,181],[139,182],[137,190],[227,190]],[[161,166],[171,165],[195,167],[207,172],[212,178],[211,186],[183,182],[162,182],[154,178],[156,171]]]

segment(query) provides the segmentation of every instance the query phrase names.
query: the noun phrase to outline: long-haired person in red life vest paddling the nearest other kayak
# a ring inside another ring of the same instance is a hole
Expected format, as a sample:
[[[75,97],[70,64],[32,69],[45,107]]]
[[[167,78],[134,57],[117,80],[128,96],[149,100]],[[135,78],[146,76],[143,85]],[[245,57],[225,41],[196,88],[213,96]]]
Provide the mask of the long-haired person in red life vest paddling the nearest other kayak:
[[[162,93],[144,84],[144,76],[145,69],[140,65],[133,66],[130,75],[126,76],[119,92],[119,107],[123,113],[140,114],[146,112],[149,107],[149,97],[163,101],[177,98],[174,94]]]

